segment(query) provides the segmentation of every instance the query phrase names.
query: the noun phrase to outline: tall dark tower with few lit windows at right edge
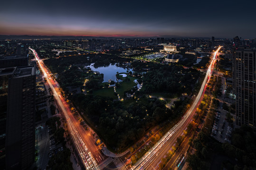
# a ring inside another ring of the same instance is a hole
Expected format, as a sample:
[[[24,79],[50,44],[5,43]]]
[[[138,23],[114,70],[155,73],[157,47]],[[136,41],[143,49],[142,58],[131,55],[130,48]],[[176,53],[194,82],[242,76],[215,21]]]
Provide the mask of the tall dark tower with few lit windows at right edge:
[[[237,125],[256,129],[256,49],[239,47],[233,56]]]

